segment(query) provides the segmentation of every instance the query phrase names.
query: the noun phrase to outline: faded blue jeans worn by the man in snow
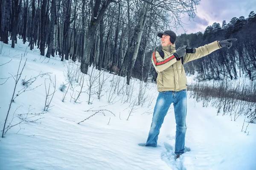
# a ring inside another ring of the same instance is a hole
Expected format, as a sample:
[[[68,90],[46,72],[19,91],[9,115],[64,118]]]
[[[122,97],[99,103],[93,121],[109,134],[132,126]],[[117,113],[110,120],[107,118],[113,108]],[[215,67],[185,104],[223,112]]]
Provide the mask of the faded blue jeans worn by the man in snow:
[[[176,120],[175,154],[181,155],[184,153],[185,149],[187,112],[186,89],[181,91],[159,92],[157,103],[154,107],[148,139],[145,146],[157,147],[157,139],[160,132],[160,127],[163,124],[163,119],[166,116],[166,113],[172,102]]]

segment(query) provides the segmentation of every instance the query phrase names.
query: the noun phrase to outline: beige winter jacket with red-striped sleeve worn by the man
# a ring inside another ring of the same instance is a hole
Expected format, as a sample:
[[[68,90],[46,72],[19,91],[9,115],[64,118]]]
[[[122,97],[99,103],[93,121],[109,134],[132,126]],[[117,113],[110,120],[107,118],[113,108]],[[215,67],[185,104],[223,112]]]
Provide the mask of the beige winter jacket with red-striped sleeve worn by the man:
[[[196,48],[195,54],[185,54],[183,64],[204,57],[213,51],[221,48],[218,41]],[[187,88],[187,80],[181,59],[177,60],[175,53],[175,44],[163,47],[164,58],[157,51],[152,54],[152,63],[156,69],[158,91],[181,91]]]

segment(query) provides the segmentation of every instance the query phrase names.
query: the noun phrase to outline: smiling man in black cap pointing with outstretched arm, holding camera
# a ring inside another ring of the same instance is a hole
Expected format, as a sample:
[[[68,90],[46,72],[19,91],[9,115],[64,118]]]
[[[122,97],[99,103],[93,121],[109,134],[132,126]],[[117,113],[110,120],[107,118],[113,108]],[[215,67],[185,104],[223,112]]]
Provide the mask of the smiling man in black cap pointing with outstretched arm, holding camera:
[[[173,31],[158,33],[158,37],[161,38],[164,57],[162,58],[157,51],[154,51],[152,54],[152,63],[158,73],[156,82],[159,94],[154,107],[152,123],[145,146],[157,147],[160,127],[162,126],[163,119],[173,102],[176,121],[175,154],[178,158],[184,153],[185,133],[187,128],[187,84],[183,64],[204,57],[219,48],[230,48],[232,42],[237,39],[215,41],[196,48],[194,54],[187,54],[186,46],[182,46],[175,51],[174,43],[176,34]],[[183,64],[181,57],[183,57]]]

